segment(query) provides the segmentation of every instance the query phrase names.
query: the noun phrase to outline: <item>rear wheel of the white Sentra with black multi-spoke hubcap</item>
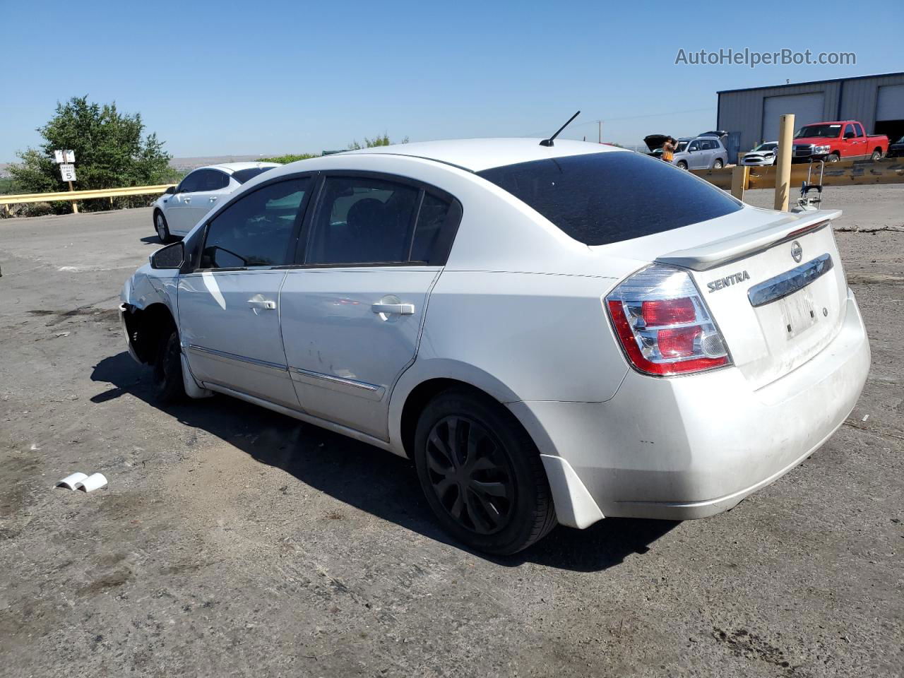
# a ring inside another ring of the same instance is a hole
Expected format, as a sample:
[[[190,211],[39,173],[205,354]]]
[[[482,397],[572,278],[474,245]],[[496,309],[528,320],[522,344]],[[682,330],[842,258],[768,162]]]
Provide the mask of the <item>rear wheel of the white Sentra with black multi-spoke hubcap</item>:
[[[511,412],[481,393],[452,389],[429,402],[414,462],[439,523],[476,551],[516,553],[557,524],[537,447]]]

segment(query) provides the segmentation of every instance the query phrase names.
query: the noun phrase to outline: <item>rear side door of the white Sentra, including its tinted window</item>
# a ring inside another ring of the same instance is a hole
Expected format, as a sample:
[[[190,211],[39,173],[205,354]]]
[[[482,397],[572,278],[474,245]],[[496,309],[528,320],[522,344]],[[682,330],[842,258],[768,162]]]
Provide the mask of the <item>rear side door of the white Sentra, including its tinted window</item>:
[[[279,297],[289,370],[306,413],[387,440],[461,206],[398,177],[331,173],[316,203]]]

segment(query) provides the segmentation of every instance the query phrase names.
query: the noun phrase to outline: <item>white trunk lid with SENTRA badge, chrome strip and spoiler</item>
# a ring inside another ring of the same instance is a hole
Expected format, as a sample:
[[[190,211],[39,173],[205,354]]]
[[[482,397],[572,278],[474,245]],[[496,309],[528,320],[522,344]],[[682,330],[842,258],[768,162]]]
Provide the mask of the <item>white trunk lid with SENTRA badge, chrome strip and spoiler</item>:
[[[642,251],[660,252],[656,262],[686,269],[733,363],[759,389],[806,363],[841,329],[847,283],[831,226],[840,215],[746,207],[602,247],[645,260]]]

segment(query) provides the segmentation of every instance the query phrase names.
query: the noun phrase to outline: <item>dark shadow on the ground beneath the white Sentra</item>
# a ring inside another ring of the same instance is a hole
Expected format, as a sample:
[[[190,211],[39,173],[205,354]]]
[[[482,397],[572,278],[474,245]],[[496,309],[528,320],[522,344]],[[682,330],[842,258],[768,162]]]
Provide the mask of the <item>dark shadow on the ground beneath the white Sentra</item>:
[[[586,530],[560,526],[513,556],[487,556],[451,540],[439,528],[420,492],[414,467],[406,459],[226,396],[160,408],[153,399],[149,369],[126,352],[100,361],[91,380],[110,384],[107,391],[90,399],[95,404],[128,393],[345,504],[504,567],[534,562],[561,570],[606,570],[632,554],[646,553],[678,524],[607,518]]]

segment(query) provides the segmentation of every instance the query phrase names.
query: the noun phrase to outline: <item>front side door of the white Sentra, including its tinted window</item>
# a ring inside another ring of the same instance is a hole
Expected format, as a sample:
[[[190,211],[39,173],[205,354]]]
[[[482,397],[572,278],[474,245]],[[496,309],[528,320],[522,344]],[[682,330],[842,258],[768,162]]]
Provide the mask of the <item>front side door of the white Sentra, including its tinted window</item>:
[[[180,277],[178,292],[183,350],[205,385],[298,408],[279,332],[279,288],[311,181],[263,184],[206,225],[197,268]]]

